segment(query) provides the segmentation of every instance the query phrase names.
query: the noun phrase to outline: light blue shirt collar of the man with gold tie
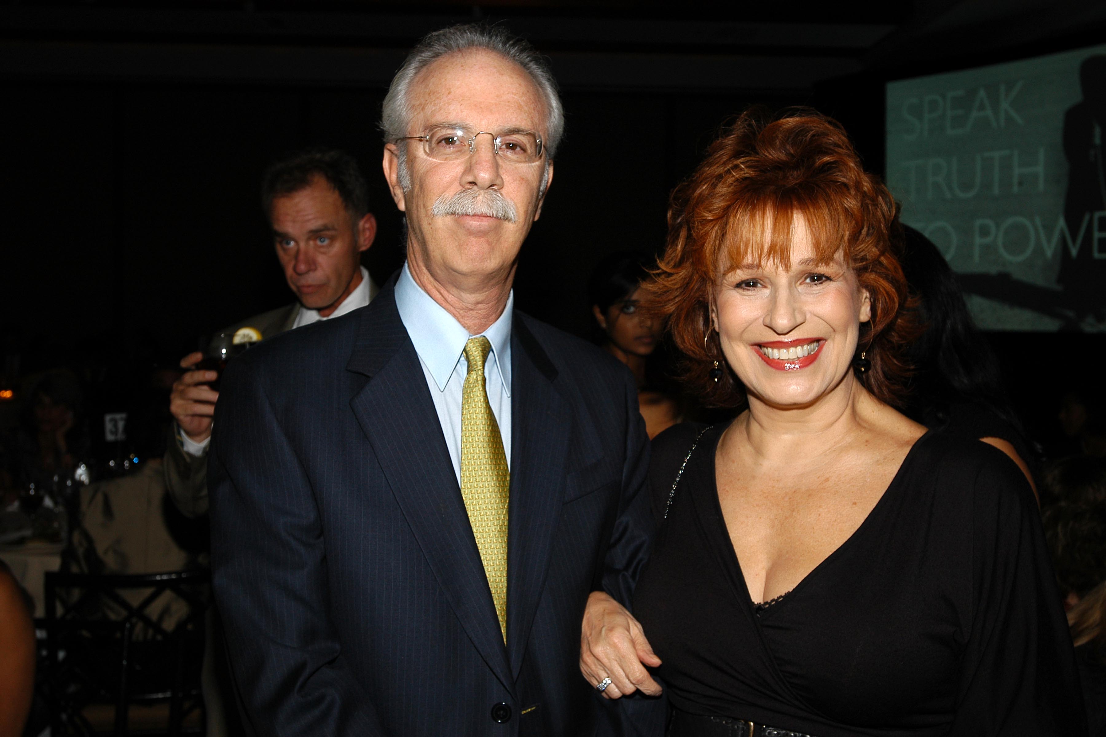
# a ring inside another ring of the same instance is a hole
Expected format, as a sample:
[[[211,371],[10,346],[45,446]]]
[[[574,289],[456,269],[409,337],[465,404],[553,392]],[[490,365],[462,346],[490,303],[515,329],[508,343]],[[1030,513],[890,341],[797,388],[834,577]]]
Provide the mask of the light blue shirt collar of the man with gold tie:
[[[449,377],[461,360],[465,344],[469,335],[457,318],[446,312],[427,294],[411,277],[407,264],[396,281],[396,308],[399,319],[407,328],[407,335],[415,344],[415,352],[422,359],[438,385],[439,391],[446,390]],[[481,333],[491,344],[495,366],[503,379],[503,389],[511,396],[511,320],[514,313],[514,289],[507,297],[503,314]]]

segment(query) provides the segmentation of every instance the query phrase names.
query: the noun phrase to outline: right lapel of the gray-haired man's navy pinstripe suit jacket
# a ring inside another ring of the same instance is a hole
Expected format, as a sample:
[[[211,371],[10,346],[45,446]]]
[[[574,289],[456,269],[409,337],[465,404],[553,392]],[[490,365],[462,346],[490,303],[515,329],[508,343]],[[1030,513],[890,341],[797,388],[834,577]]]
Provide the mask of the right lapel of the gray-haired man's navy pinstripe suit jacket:
[[[518,676],[561,518],[572,410],[554,388],[556,368],[518,313],[512,341],[507,640]]]

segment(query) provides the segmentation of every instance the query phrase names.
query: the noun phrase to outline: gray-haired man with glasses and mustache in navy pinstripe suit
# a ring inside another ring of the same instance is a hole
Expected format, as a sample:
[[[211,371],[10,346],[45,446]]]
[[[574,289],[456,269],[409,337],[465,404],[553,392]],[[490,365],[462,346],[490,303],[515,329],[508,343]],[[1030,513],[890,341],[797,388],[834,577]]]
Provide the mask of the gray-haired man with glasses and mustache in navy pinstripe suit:
[[[617,733],[634,699],[603,701],[612,680],[577,659],[585,609],[586,640],[632,642],[616,600],[651,536],[637,392],[511,291],[563,128],[552,76],[501,30],[446,29],[383,127],[407,263],[367,307],[236,359],[217,404],[213,581],[247,722]],[[658,734],[643,704],[634,734]]]

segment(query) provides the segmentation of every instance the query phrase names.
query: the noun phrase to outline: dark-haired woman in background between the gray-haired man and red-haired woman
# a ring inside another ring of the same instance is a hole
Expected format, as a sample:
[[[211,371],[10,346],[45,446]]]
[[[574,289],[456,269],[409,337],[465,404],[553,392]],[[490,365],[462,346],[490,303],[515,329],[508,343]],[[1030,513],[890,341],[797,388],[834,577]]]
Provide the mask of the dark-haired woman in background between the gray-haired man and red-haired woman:
[[[660,343],[657,324],[638,312],[641,284],[649,278],[654,259],[635,252],[614,253],[592,272],[587,297],[595,323],[603,333],[603,347],[625,364],[637,380],[637,401],[649,438],[680,421],[679,403],[665,387],[657,367]]]

